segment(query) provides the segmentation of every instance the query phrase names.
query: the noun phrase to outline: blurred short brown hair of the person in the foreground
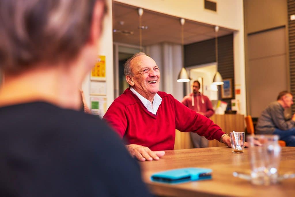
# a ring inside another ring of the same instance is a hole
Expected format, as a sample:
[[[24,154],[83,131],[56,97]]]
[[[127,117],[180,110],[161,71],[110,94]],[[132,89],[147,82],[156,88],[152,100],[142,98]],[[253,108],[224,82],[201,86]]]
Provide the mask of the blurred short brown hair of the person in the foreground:
[[[14,74],[76,58],[89,39],[96,1],[1,0],[0,69]]]

